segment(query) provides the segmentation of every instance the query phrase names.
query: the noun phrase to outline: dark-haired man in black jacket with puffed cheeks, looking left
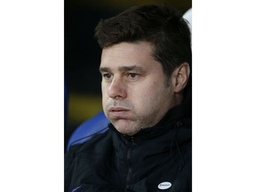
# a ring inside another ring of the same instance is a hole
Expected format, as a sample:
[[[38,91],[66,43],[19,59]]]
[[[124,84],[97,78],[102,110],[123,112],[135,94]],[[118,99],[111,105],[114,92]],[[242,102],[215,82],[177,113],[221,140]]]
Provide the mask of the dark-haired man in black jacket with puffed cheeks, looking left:
[[[141,5],[100,20],[108,131],[70,148],[66,191],[191,191],[191,47],[170,8]]]

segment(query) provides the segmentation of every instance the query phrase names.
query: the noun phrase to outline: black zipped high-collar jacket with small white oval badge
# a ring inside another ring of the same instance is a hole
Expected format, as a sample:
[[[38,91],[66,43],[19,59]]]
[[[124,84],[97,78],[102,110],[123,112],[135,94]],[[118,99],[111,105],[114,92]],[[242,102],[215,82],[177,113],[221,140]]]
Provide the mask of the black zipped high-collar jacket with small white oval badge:
[[[191,191],[191,115],[172,108],[156,126],[133,137],[94,136],[65,156],[66,192]],[[165,189],[164,189],[165,188]]]

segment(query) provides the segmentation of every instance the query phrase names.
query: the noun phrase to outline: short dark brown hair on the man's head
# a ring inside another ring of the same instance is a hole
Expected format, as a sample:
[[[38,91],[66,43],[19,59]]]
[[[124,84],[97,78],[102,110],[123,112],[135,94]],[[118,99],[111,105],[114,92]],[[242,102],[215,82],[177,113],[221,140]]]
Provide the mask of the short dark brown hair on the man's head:
[[[95,37],[102,49],[121,42],[149,42],[153,45],[153,57],[161,63],[168,79],[182,62],[188,62],[191,68],[188,24],[180,12],[164,5],[134,6],[108,20],[100,20]]]

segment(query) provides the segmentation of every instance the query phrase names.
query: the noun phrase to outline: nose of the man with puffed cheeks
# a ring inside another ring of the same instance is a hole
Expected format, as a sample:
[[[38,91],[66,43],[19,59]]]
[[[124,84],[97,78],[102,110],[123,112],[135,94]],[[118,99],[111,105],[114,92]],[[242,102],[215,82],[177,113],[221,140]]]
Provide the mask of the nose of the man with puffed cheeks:
[[[108,87],[108,97],[112,99],[124,99],[127,97],[125,84],[121,78],[114,77]]]

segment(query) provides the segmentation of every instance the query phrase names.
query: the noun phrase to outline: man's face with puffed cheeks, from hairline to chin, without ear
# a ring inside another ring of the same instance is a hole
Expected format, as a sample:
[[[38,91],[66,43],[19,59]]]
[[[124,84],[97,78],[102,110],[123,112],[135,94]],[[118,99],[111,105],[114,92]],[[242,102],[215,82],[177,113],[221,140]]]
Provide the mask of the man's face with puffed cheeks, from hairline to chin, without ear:
[[[100,73],[103,109],[118,132],[133,135],[154,126],[174,106],[172,84],[146,42],[103,49]]]

